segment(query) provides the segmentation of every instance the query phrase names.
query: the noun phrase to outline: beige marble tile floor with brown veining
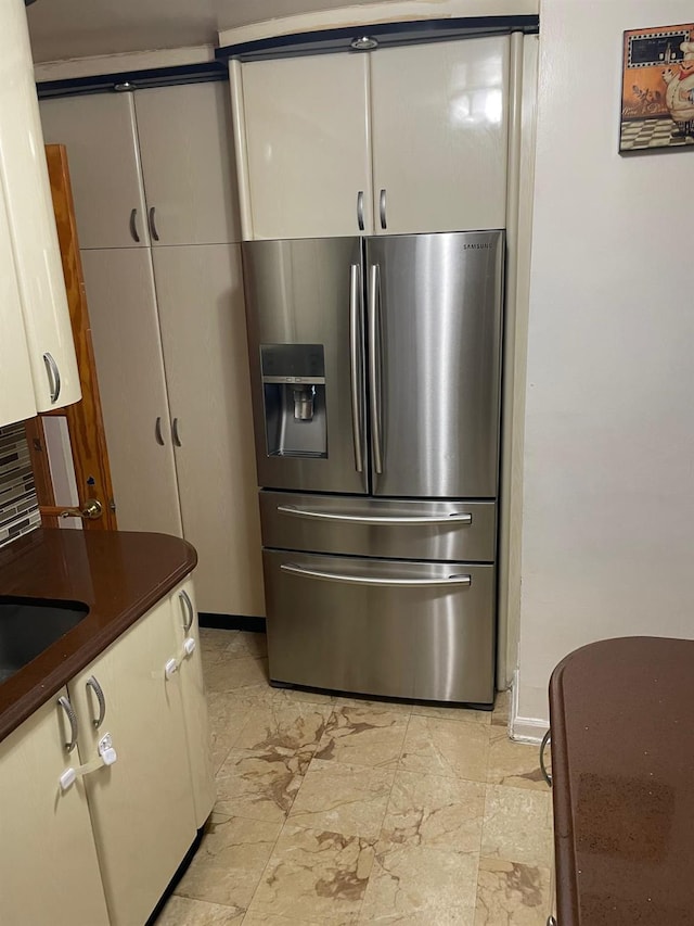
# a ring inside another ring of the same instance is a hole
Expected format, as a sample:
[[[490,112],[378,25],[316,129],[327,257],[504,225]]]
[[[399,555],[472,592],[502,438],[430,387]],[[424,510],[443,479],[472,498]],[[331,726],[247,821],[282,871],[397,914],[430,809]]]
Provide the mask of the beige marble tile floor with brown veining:
[[[203,630],[217,803],[157,926],[544,926],[538,750],[492,713],[271,688]]]

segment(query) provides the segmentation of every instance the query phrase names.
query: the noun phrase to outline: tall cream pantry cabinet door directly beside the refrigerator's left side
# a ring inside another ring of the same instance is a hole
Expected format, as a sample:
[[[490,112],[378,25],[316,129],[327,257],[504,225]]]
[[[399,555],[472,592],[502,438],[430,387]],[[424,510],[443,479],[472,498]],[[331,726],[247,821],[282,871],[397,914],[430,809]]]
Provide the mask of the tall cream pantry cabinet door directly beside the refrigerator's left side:
[[[240,248],[158,248],[153,258],[198,604],[203,611],[262,616]]]

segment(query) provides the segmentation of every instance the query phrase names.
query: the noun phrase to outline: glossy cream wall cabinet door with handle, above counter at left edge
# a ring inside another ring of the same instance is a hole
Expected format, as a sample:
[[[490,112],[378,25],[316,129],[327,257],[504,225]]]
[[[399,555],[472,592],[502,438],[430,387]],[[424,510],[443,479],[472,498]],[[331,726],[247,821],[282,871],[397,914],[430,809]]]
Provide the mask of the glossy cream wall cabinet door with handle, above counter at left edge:
[[[0,9],[0,188],[22,302],[35,408],[47,411],[77,402],[81,393],[21,0],[8,0]],[[2,253],[0,261],[7,270],[7,248]],[[3,307],[3,315],[8,310]]]

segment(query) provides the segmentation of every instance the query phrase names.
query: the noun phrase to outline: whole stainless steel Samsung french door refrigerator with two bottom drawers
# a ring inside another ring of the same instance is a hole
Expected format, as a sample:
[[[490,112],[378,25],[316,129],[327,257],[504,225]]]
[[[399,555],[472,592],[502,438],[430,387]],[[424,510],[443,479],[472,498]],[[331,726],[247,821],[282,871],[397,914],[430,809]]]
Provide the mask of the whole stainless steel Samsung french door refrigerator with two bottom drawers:
[[[243,256],[272,682],[492,703],[503,231]]]

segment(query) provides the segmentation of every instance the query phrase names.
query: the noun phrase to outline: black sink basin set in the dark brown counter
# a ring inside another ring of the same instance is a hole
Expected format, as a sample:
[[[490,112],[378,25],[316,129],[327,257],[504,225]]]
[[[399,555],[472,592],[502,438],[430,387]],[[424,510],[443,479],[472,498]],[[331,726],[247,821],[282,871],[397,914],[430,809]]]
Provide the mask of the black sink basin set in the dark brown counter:
[[[43,652],[89,613],[80,601],[0,596],[0,683]]]

